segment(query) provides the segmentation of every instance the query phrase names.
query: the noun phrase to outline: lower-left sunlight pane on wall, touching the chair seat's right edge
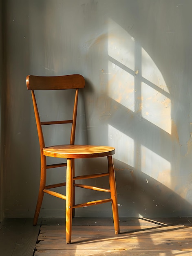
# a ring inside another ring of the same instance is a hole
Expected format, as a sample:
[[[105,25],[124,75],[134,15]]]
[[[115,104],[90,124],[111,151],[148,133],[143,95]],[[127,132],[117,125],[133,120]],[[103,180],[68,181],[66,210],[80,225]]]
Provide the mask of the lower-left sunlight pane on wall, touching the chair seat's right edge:
[[[115,158],[134,167],[134,140],[108,125],[108,141],[109,146],[118,148]]]

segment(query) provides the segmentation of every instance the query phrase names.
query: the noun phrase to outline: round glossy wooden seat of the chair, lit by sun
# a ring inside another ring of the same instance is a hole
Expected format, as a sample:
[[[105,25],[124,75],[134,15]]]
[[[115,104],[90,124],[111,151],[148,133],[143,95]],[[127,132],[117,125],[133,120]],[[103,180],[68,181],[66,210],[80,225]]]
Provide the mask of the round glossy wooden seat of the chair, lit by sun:
[[[57,145],[43,148],[43,155],[59,158],[106,157],[115,154],[115,148],[92,145]]]

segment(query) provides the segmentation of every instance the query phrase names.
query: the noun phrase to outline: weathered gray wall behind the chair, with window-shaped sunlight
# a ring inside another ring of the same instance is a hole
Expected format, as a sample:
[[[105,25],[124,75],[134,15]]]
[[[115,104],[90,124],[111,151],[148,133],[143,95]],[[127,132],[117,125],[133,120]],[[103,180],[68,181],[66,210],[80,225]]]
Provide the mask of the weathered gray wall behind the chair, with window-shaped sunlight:
[[[192,1],[4,3],[4,216],[33,216],[38,195],[39,145],[26,75],[74,73],[86,79],[76,143],[115,146],[119,215],[191,216]],[[42,106],[42,94],[37,97]],[[49,113],[42,107],[41,117],[51,117],[52,110],[68,116],[71,97],[46,94]],[[57,136],[66,142],[63,128],[54,127],[51,136],[48,131],[48,144]],[[76,162],[78,173],[105,166],[105,159]],[[48,183],[64,179],[62,171],[47,177]],[[82,202],[87,192],[79,191],[77,199]],[[94,191],[90,198],[97,199]],[[40,216],[64,216],[64,205],[46,195]],[[110,204],[76,211],[111,214]]]

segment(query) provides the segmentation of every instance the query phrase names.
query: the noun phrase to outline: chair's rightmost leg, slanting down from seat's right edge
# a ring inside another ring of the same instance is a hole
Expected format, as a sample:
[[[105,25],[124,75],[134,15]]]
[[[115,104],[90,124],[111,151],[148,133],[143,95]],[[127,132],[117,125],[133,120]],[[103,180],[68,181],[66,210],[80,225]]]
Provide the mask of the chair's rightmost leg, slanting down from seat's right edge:
[[[113,222],[115,227],[115,234],[117,235],[119,234],[119,213],[118,213],[118,205],[117,205],[115,170],[114,170],[112,156],[110,155],[107,158],[108,158],[110,194],[112,198]]]

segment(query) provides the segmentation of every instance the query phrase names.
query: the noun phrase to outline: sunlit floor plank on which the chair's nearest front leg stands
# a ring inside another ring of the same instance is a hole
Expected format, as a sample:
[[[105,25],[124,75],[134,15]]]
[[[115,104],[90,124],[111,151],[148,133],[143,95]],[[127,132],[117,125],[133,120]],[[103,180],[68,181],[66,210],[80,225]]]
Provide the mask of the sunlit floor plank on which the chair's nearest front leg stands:
[[[80,240],[80,242],[79,242]],[[36,249],[57,250],[192,250],[192,239],[159,238],[74,238],[71,245],[66,245],[64,238],[47,238],[36,245]]]

